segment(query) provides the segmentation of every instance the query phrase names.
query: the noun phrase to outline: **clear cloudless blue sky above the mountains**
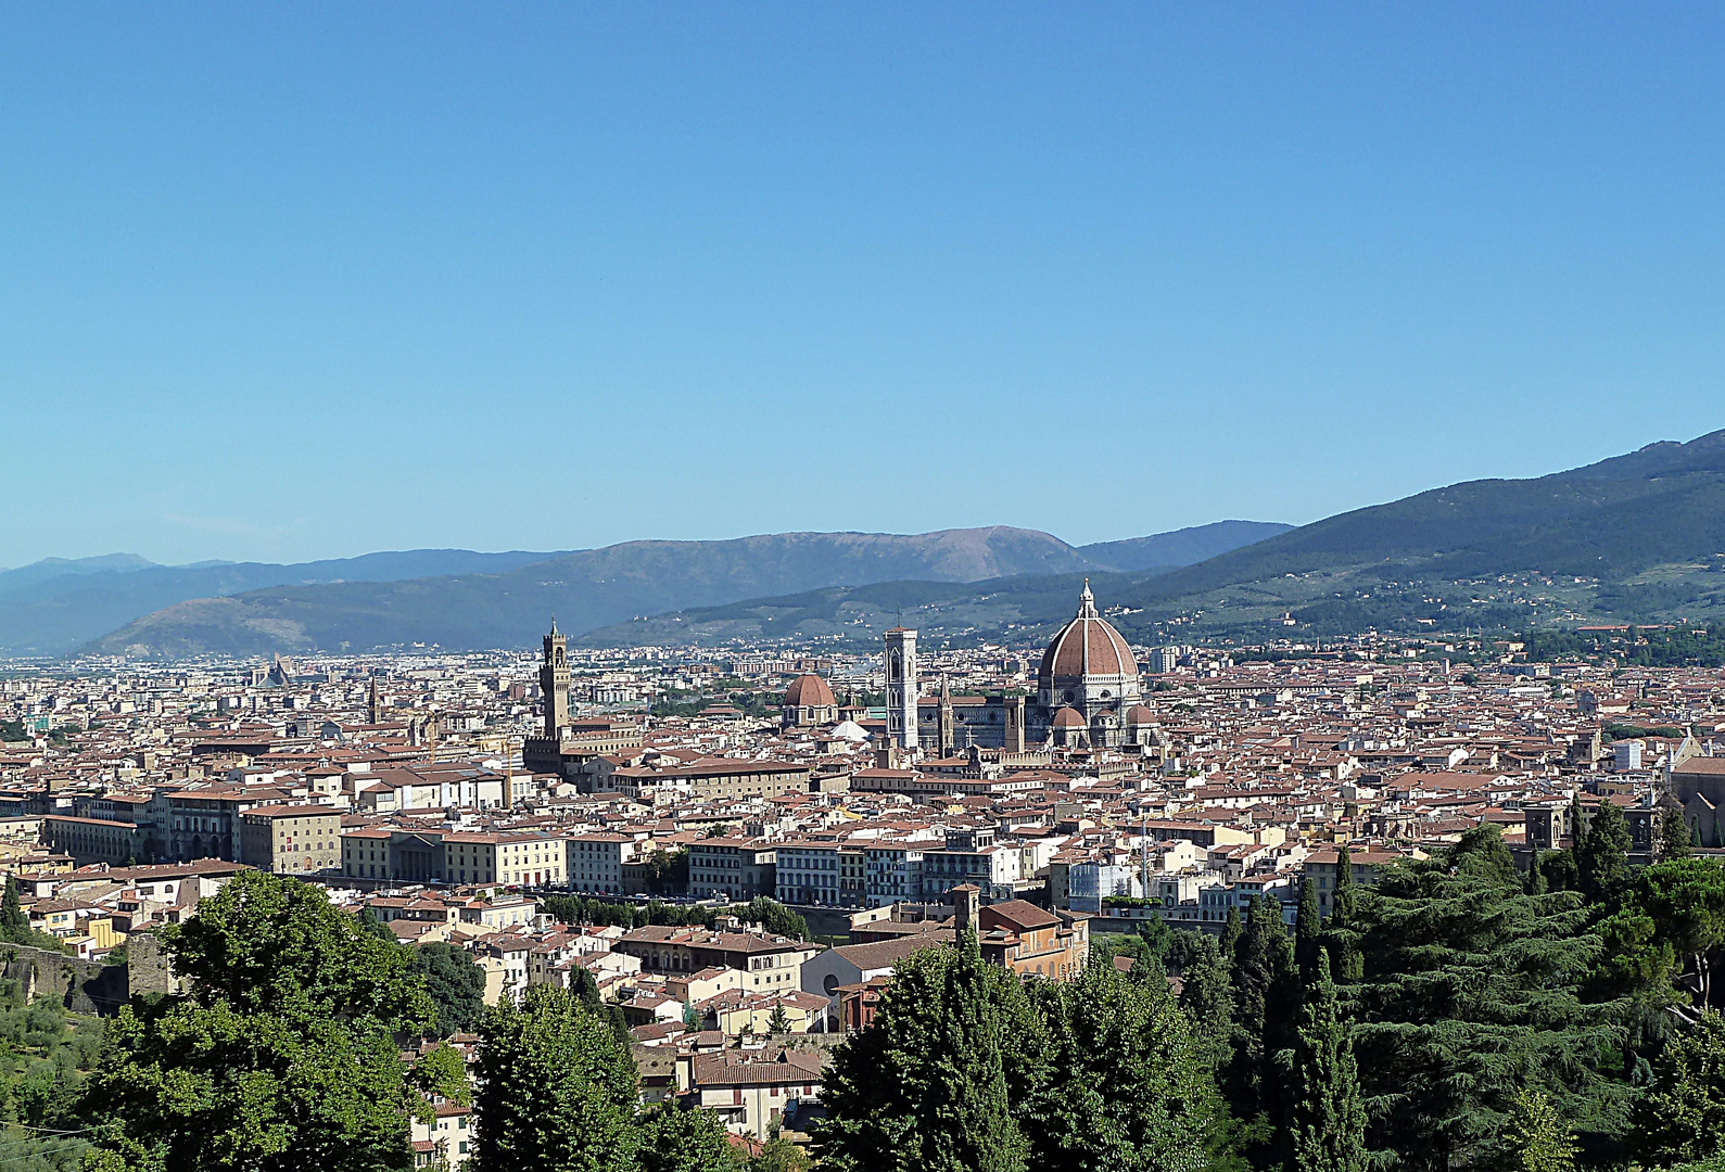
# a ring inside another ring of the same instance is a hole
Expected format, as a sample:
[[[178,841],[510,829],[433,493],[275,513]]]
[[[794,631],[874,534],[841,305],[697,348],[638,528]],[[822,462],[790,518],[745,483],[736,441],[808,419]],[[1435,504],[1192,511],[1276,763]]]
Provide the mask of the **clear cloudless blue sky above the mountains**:
[[[1725,427],[1725,7],[9,5],[0,565],[1306,522]]]

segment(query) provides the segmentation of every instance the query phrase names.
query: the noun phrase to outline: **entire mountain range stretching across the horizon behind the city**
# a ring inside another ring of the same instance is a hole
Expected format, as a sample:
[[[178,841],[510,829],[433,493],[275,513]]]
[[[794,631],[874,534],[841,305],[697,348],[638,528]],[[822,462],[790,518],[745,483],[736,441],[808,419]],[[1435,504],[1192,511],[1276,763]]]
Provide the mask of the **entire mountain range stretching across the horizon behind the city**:
[[[462,557],[500,560],[447,569]],[[1080,576],[1094,579],[1116,626],[1144,643],[1711,622],[1725,620],[1725,431],[1542,477],[1435,488],[1297,529],[1230,521],[1073,546],[997,526],[371,558],[381,560],[369,570],[83,567],[43,577],[26,567],[28,584],[0,574],[0,646],[19,646],[14,615],[29,607],[38,631],[47,610],[62,608],[57,650],[78,646],[76,617],[88,631],[85,650],[162,657],[531,646],[550,615],[590,645],[864,646],[900,619],[928,639],[1023,645],[1071,614]],[[423,565],[438,569],[414,572]],[[85,614],[112,617],[121,603],[79,612],[83,598],[159,572],[178,574],[174,589],[185,593],[140,591],[129,615],[90,629],[95,619]],[[254,588],[247,574],[276,577]],[[217,586],[193,589],[205,581]],[[154,598],[166,600],[143,605]]]

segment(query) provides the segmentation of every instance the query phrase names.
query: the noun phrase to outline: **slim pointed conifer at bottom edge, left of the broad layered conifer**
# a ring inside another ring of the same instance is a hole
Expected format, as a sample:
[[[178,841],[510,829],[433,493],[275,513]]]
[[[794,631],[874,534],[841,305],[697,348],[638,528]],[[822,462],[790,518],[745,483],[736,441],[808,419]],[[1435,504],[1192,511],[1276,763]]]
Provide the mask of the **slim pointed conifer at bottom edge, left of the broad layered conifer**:
[[[1330,958],[1318,953],[1295,1055],[1289,1148],[1295,1172],[1366,1172],[1366,1108],[1354,1044],[1342,1022]]]

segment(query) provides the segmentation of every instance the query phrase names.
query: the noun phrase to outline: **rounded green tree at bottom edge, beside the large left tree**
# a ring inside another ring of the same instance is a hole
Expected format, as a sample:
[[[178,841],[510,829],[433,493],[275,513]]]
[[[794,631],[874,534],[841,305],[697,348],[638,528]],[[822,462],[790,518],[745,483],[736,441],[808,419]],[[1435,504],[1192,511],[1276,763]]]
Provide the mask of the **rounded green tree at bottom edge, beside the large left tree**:
[[[549,984],[480,1024],[476,1172],[612,1172],[635,1165],[637,1075],[588,1007]]]

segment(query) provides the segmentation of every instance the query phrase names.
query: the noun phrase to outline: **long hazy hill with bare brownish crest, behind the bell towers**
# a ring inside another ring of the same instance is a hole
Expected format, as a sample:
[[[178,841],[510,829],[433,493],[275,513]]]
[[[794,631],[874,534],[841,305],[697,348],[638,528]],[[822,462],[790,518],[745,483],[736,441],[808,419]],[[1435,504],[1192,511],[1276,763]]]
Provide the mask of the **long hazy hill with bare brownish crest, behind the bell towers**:
[[[1251,539],[1251,522],[1235,526]],[[1245,527],[1239,527],[1245,526]],[[1206,529],[1213,529],[1206,526]],[[1182,541],[1226,541],[1220,534]],[[1180,557],[1180,541],[1128,546],[1128,558]],[[1121,557],[1113,553],[1111,557]],[[921,579],[1047,577],[1113,562],[1035,529],[994,526],[923,534],[781,533],[731,541],[628,541],[564,553],[505,572],[393,583],[271,586],[183,600],[95,639],[97,653],[181,657],[205,651],[530,646],[547,620],[581,633],[688,607],[818,588]]]

